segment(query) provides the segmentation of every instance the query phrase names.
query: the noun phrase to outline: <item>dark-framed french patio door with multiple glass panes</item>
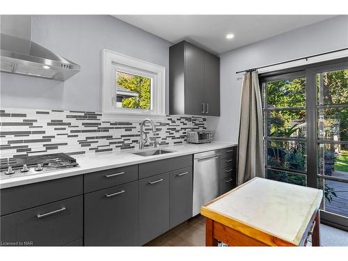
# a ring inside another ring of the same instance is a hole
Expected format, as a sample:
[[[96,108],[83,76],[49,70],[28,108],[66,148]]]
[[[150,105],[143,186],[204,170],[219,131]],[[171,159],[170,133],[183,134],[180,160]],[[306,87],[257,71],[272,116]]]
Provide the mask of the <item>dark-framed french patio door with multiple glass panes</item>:
[[[348,229],[348,61],[260,75],[267,178],[323,189],[322,220]]]

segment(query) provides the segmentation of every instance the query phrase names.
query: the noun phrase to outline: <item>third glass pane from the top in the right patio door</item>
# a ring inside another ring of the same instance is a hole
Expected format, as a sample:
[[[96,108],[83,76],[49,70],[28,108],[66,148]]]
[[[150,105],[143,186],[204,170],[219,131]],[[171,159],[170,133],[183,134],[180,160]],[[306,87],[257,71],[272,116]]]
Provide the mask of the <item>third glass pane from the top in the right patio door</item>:
[[[319,144],[318,173],[348,179],[348,145]]]

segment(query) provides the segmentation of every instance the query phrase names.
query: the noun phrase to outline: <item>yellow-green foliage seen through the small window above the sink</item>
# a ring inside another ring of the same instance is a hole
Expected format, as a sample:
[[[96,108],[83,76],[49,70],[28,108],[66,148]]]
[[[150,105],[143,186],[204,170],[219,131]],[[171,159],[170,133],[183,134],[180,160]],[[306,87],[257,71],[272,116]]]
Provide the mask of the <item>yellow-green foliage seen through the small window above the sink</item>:
[[[117,84],[138,93],[138,97],[128,97],[122,100],[123,108],[149,110],[151,106],[151,79],[138,75],[117,72]]]

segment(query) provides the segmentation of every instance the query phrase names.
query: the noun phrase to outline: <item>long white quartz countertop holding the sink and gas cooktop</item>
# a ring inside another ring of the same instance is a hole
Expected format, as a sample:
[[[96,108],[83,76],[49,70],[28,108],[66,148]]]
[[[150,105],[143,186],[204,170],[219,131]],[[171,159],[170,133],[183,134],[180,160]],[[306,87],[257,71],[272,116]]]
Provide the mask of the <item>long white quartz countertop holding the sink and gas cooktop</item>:
[[[230,146],[237,145],[232,142],[212,142],[201,144],[182,144],[182,145],[168,145],[159,146],[161,150],[171,150],[173,152],[162,155],[154,155],[143,157],[134,155],[132,152],[139,152],[139,150],[125,150],[120,152],[100,152],[100,153],[88,153],[85,155],[74,155],[79,164],[76,168],[65,168],[58,171],[48,171],[46,173],[38,173],[33,175],[20,175],[14,177],[5,177],[0,179],[0,189],[8,187],[15,187],[24,184],[31,184],[35,182],[42,182],[46,180],[54,180],[61,177],[70,177],[73,175],[81,175],[94,171],[103,171],[109,168],[118,168],[122,166],[129,166],[133,164],[141,164],[144,162],[156,161],[159,159],[169,159],[172,157],[179,157],[184,155],[190,155],[199,152],[206,152],[209,150],[219,150],[222,148],[228,148]],[[146,150],[154,150],[149,148]],[[145,150],[141,150],[145,151]]]

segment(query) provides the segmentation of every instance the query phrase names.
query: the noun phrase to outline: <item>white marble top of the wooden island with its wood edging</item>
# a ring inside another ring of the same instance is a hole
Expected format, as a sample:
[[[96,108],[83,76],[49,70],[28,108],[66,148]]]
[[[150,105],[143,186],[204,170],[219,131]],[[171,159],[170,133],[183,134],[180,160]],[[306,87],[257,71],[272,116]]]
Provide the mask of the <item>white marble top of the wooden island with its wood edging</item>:
[[[204,205],[201,214],[260,241],[267,233],[299,245],[322,197],[319,189],[255,177]]]

